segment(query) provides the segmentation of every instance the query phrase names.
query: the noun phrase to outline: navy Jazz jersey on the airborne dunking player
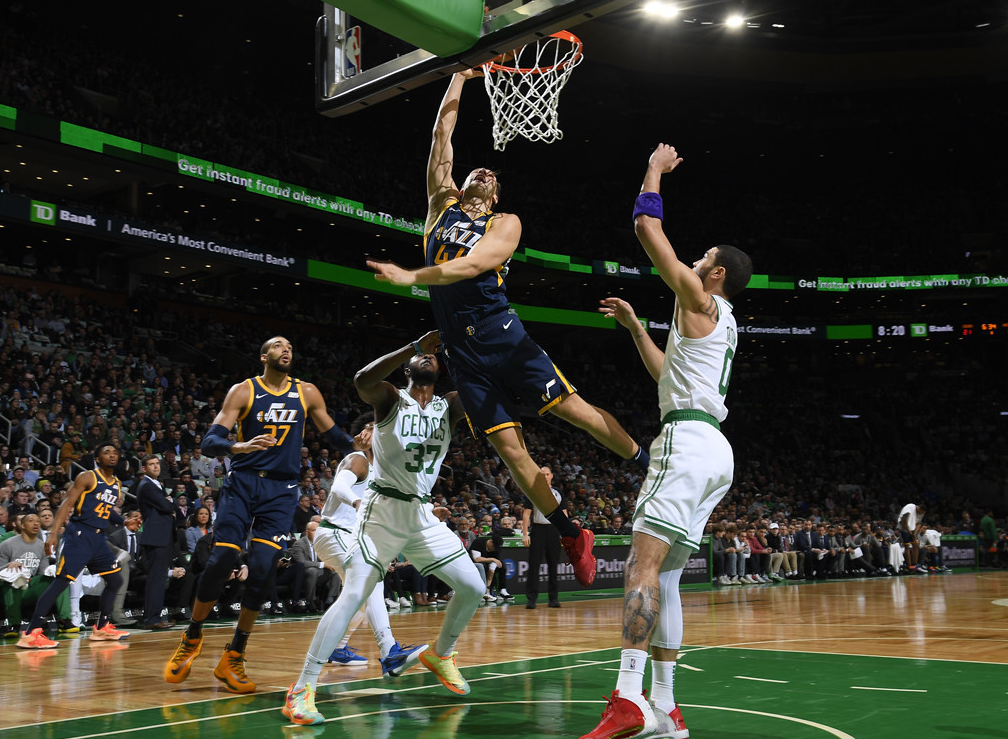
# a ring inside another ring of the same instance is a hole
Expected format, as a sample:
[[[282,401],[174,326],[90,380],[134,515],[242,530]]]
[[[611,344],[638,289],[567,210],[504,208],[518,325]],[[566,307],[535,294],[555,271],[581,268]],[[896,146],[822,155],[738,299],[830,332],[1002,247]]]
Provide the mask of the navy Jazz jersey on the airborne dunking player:
[[[462,210],[459,201],[449,201],[437,221],[425,235],[425,263],[440,264],[450,259],[466,256],[490,228],[494,214],[484,213],[471,219]],[[442,332],[460,336],[471,326],[510,310],[504,294],[506,265],[483,272],[470,279],[450,285],[430,285],[430,304],[434,321]],[[471,332],[470,332],[471,333]]]

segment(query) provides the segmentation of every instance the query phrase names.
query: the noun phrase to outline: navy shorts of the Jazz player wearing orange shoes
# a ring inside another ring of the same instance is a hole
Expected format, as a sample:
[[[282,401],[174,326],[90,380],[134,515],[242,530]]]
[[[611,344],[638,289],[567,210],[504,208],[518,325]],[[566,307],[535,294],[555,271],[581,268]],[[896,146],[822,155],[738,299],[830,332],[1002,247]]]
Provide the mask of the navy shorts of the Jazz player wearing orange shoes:
[[[290,532],[298,497],[296,480],[271,480],[252,470],[232,470],[221,486],[215,542],[244,549],[251,533],[252,541],[282,548],[281,537]]]

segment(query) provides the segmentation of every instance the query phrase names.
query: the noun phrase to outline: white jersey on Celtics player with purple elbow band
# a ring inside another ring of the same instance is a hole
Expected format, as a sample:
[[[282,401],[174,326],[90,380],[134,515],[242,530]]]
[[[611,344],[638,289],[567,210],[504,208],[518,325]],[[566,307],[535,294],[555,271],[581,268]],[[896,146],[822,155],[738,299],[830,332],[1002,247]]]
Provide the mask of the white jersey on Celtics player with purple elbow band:
[[[658,380],[662,417],[672,410],[703,410],[719,421],[728,415],[725,394],[739,332],[732,303],[718,295],[712,297],[718,303],[718,326],[703,339],[687,339],[672,321]]]

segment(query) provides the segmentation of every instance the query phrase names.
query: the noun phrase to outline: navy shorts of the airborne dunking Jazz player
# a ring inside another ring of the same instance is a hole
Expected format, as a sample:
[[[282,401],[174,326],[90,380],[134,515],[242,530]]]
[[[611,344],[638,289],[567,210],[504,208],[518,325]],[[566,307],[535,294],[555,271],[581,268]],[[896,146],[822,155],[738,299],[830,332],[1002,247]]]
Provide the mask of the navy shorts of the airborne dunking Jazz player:
[[[445,344],[449,373],[474,435],[520,427],[522,404],[542,415],[577,392],[514,314]]]

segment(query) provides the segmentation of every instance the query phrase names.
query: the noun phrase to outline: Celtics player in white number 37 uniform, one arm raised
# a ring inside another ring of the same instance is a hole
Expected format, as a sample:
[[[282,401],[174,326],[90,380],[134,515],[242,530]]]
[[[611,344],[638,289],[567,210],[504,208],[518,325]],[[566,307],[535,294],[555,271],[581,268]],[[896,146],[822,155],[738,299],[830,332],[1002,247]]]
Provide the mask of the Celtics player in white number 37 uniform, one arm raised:
[[[376,359],[354,377],[358,393],[371,403],[378,419],[372,438],[374,481],[358,520],[356,541],[344,561],[343,592],[323,615],[300,678],[287,691],[283,715],[292,723],[325,721],[314,705],[322,667],[351,618],[384,578],[388,563],[400,552],[421,575],[436,574],[455,590],[437,640],[413,654],[419,654],[420,663],[450,691],[462,696],[469,693],[469,684],[455,662],[455,646],[476,613],[486,585],[462,541],[434,515],[430,503],[430,490],[448,454],[452,432],[465,415],[458,393],[434,394],[437,345],[437,333],[430,332]],[[385,378],[403,362],[407,362],[408,384],[398,389]]]

